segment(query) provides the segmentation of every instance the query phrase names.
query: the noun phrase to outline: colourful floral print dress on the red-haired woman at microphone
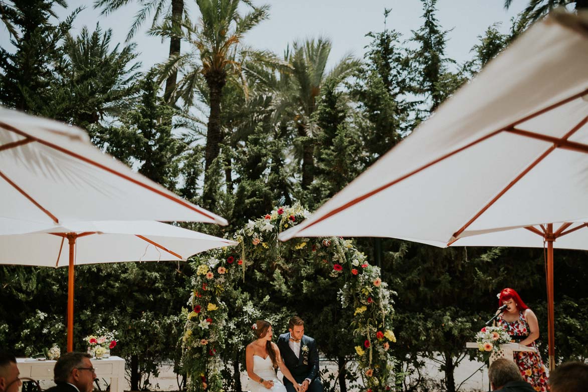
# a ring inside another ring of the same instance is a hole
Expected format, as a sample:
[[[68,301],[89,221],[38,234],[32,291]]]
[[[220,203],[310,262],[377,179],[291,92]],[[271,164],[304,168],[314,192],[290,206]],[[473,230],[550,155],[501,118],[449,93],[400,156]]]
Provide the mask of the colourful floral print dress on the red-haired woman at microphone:
[[[502,326],[509,335],[529,336],[529,324],[527,324],[527,320],[522,311],[519,311],[519,319],[512,323],[503,320],[501,314],[498,319],[498,325]],[[529,344],[529,347],[537,348],[534,341]],[[549,390],[547,388],[545,366],[539,352],[516,351],[515,363],[519,366],[523,379],[531,384],[537,392],[546,392]]]

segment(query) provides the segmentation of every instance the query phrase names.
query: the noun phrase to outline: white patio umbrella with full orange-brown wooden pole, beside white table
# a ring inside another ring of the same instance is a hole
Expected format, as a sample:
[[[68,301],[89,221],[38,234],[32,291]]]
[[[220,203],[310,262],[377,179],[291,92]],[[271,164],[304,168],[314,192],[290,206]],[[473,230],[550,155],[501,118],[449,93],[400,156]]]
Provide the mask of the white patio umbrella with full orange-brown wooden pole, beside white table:
[[[68,351],[74,346],[74,266],[79,264],[186,260],[238,242],[153,221],[71,222],[0,235],[0,264],[69,267]],[[69,252],[65,246],[69,244]]]

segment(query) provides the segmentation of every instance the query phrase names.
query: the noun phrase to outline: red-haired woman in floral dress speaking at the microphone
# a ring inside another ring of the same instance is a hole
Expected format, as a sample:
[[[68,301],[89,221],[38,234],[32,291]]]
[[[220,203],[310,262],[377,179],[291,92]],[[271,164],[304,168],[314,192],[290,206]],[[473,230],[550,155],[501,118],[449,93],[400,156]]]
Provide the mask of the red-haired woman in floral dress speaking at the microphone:
[[[523,346],[537,349],[535,340],[539,337],[539,323],[532,310],[529,309],[519,294],[510,288],[498,294],[498,306],[506,305],[506,309],[498,316],[498,325],[502,326],[511,336],[519,336]],[[539,355],[527,351],[516,351],[515,363],[524,380],[531,384],[537,392],[547,391],[547,374]]]

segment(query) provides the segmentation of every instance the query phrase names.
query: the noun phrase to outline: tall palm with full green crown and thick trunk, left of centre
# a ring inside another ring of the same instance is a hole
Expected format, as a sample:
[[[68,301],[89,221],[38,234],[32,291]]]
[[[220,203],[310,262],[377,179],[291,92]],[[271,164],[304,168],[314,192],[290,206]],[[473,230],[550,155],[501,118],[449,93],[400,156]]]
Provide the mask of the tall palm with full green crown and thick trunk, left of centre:
[[[241,2],[250,7],[246,15],[239,13]],[[203,194],[203,202],[209,205],[214,200],[206,192],[210,175],[208,169],[219,156],[223,140],[223,87],[229,79],[244,80],[242,65],[246,59],[271,57],[269,53],[254,51],[242,44],[245,33],[268,18],[269,5],[256,7],[249,0],[196,0],[196,4],[202,16],[195,24],[185,19],[182,28],[176,29],[167,19],[162,25],[152,28],[150,33],[160,36],[181,35],[191,48],[188,53],[170,58],[163,72],[169,74],[181,71],[183,75],[173,93],[173,100],[182,98],[186,106],[192,106],[197,98],[201,98],[210,108],[206,127]]]

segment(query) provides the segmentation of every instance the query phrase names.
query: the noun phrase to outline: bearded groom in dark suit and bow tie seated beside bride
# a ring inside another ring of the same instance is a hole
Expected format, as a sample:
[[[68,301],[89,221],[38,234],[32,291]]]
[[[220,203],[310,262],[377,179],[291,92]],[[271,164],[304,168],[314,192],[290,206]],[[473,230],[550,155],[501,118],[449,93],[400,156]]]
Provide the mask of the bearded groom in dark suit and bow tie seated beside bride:
[[[304,321],[298,316],[288,322],[289,332],[280,335],[278,349],[282,360],[292,377],[301,385],[300,392],[322,392],[323,384],[319,377],[319,351],[316,341],[304,334]],[[288,392],[295,388],[286,377],[284,386]]]

